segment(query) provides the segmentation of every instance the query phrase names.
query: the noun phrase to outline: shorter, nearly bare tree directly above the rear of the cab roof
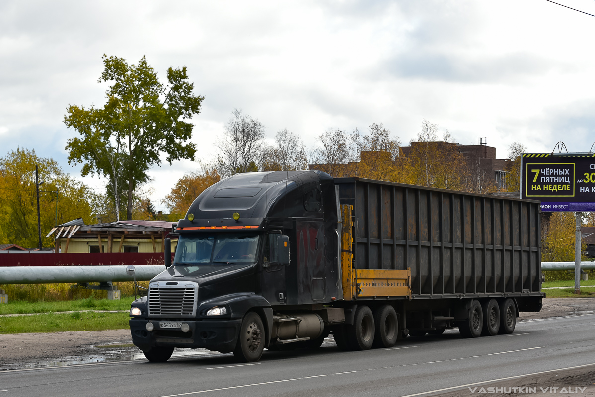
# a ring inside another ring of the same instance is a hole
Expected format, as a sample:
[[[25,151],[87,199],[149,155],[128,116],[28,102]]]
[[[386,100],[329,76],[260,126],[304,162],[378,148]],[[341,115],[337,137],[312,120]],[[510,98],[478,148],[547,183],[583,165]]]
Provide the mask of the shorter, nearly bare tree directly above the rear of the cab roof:
[[[302,138],[287,128],[275,135],[275,144],[263,150],[261,171],[296,171],[308,169],[308,155]]]

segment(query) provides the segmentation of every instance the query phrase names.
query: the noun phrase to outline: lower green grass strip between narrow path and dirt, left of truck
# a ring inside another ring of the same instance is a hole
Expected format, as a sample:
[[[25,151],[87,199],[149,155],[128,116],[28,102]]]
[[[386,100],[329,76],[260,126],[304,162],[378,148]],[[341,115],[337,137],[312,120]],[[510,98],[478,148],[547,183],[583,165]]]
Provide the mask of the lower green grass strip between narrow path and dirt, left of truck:
[[[128,328],[128,313],[44,313],[2,317],[0,334],[30,332],[98,331]]]

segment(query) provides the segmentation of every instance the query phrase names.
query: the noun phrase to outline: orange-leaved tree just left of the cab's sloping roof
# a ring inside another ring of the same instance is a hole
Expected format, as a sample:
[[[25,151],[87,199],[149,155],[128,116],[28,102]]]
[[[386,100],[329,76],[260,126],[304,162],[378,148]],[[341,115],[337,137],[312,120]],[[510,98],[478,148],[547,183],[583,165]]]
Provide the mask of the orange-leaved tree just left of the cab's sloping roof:
[[[195,198],[220,179],[221,176],[215,165],[201,165],[199,171],[191,172],[180,178],[170,194],[165,196],[163,203],[172,215],[177,216],[177,219],[184,218],[184,214]]]

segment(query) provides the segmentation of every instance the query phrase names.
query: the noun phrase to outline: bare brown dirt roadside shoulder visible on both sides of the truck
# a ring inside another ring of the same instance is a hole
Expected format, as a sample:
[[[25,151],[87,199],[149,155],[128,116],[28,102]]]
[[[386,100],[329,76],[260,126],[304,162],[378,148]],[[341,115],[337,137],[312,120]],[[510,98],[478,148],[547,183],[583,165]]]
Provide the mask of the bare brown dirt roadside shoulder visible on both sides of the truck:
[[[543,300],[539,313],[521,312],[519,321],[595,313],[595,298],[553,298]],[[131,344],[129,329],[80,332],[19,333],[0,335],[0,370],[6,364],[48,361],[64,357],[106,354],[98,345]],[[114,346],[114,348],[116,348]],[[518,385],[518,383],[516,383]]]

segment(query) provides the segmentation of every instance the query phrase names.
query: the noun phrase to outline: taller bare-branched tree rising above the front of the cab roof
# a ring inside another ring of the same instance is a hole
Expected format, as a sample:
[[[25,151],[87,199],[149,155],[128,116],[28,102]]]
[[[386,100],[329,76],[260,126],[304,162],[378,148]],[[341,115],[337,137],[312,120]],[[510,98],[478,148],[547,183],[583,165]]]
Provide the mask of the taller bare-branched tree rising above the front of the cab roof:
[[[264,150],[264,125],[242,109],[234,109],[217,146],[222,153],[218,170],[221,175],[258,171]]]

